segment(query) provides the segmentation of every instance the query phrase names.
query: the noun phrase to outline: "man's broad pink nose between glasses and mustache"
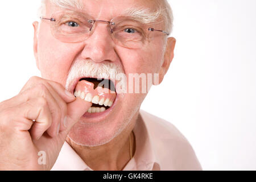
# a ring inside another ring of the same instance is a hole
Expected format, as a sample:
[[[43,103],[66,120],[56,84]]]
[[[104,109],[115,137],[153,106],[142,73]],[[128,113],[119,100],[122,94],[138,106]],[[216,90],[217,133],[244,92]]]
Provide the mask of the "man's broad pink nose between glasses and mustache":
[[[84,41],[85,47],[81,53],[82,59],[91,59],[95,63],[101,63],[102,61],[114,62],[118,59],[108,26],[108,23],[94,23],[91,35]]]

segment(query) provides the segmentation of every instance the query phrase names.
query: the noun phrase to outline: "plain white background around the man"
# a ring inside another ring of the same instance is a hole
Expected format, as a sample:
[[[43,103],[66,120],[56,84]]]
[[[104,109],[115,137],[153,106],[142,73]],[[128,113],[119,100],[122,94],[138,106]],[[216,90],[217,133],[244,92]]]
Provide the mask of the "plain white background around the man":
[[[175,58],[142,109],[173,123],[205,170],[256,170],[256,1],[171,0]],[[37,1],[0,2],[0,101],[40,76]]]

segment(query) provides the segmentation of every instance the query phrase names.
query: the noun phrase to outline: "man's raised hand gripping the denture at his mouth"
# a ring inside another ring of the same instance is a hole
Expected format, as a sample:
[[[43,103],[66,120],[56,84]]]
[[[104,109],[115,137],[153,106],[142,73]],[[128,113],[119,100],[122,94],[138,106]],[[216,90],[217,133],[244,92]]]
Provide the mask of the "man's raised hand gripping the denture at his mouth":
[[[0,170],[50,170],[90,106],[57,82],[31,77],[17,96],[0,103]],[[45,165],[38,163],[39,151]]]

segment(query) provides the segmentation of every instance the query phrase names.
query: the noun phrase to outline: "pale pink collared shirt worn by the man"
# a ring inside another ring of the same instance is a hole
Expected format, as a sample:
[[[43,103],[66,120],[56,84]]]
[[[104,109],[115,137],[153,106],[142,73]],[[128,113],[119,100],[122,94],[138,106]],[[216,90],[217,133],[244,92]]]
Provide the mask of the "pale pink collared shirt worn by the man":
[[[124,171],[201,170],[201,165],[188,140],[170,122],[141,110],[142,121],[133,129],[136,150]],[[52,170],[92,170],[67,142]]]

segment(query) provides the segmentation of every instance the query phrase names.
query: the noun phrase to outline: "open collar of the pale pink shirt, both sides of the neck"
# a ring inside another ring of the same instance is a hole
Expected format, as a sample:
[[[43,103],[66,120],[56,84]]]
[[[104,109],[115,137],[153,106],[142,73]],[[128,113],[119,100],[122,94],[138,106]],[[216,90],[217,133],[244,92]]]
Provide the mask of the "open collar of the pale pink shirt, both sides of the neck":
[[[133,158],[126,164],[124,171],[151,171],[160,170],[160,163],[156,156],[154,142],[148,134],[146,126],[147,117],[140,112],[140,119],[136,122],[133,132],[135,135],[136,150]],[[85,164],[79,155],[67,142],[64,142],[60,154],[52,170],[73,170],[73,171],[92,171]]]

